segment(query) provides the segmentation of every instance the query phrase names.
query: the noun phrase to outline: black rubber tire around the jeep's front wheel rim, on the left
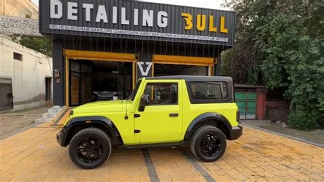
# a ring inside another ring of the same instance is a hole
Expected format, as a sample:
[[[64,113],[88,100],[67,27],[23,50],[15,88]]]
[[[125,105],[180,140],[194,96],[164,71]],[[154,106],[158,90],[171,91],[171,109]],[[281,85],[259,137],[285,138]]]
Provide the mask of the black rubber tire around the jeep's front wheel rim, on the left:
[[[101,157],[93,163],[84,162],[81,159],[79,159],[79,157],[77,156],[77,147],[79,143],[88,137],[96,138],[103,146]],[[77,134],[75,134],[72,140],[70,141],[70,145],[68,147],[68,154],[70,156],[71,161],[75,165],[79,166],[79,168],[83,168],[83,169],[97,168],[98,166],[104,164],[105,161],[107,161],[107,159],[109,158],[111,154],[111,142],[108,135],[105,133],[105,131],[101,129],[97,129],[94,127],[82,129]]]

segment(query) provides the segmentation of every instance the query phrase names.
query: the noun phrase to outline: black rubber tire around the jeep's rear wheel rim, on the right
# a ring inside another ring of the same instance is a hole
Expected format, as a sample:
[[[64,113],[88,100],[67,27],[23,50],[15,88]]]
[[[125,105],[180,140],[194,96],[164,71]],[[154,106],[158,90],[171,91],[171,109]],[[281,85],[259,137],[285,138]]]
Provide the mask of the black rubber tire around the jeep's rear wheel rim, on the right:
[[[219,139],[219,144],[220,148],[219,151],[216,153],[215,156],[208,157],[202,153],[200,149],[200,145],[202,140],[205,138],[206,135],[215,135]],[[202,127],[199,127],[192,135],[191,140],[190,140],[190,150],[191,153],[201,161],[217,161],[217,159],[221,158],[221,156],[224,155],[226,151],[226,137],[220,129],[210,126],[210,125],[205,125]]]

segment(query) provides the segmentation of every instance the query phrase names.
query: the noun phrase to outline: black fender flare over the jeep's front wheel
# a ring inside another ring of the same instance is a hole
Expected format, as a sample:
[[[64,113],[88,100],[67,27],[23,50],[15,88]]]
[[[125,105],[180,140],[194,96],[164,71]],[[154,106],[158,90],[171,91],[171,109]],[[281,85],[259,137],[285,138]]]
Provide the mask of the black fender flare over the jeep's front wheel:
[[[90,122],[88,122],[90,121]],[[111,142],[113,144],[122,144],[122,136],[120,135],[117,127],[113,124],[112,120],[109,118],[106,118],[104,116],[85,116],[85,117],[77,117],[77,118],[72,118],[69,122],[68,125],[66,125],[66,129],[70,130],[73,127],[77,126],[84,126],[84,125],[100,125],[104,128],[99,128],[103,129],[105,131],[108,131],[109,134],[111,135]],[[68,133],[66,133],[68,135]],[[71,140],[71,138],[66,138],[67,140]],[[66,141],[69,142],[69,141]]]

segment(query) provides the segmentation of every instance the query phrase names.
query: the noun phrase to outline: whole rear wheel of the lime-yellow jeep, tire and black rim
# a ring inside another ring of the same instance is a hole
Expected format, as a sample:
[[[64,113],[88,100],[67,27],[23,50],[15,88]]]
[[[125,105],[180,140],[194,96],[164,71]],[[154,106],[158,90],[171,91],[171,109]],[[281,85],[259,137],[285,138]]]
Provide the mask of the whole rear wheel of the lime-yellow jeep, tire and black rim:
[[[226,150],[226,137],[216,127],[206,125],[193,133],[190,141],[191,153],[201,161],[217,161]]]

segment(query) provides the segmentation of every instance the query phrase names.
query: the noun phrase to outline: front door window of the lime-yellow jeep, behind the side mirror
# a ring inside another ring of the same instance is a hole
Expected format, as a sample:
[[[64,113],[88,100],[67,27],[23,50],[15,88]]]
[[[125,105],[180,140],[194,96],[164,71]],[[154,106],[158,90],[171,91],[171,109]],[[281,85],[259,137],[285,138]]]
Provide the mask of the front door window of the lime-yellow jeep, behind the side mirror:
[[[178,83],[148,83],[144,94],[150,96],[149,105],[177,105]]]

